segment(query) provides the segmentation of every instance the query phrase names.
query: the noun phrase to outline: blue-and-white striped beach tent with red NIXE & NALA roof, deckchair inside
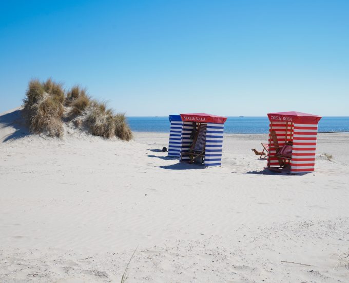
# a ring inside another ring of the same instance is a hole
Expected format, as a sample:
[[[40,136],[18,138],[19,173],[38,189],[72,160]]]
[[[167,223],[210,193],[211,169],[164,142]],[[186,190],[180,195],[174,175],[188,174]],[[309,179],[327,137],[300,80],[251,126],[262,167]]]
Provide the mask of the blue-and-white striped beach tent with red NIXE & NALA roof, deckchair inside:
[[[181,114],[180,161],[201,160],[205,166],[221,166],[226,117],[206,113]]]

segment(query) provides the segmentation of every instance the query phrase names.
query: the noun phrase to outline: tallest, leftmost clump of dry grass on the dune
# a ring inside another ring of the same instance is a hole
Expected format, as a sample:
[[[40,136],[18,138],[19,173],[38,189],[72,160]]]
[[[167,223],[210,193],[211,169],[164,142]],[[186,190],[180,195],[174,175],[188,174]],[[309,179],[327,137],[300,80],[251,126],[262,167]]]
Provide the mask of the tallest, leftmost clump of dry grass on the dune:
[[[52,79],[45,82],[30,80],[23,102],[24,114],[32,132],[44,132],[56,137],[63,135],[64,90],[62,84]]]

